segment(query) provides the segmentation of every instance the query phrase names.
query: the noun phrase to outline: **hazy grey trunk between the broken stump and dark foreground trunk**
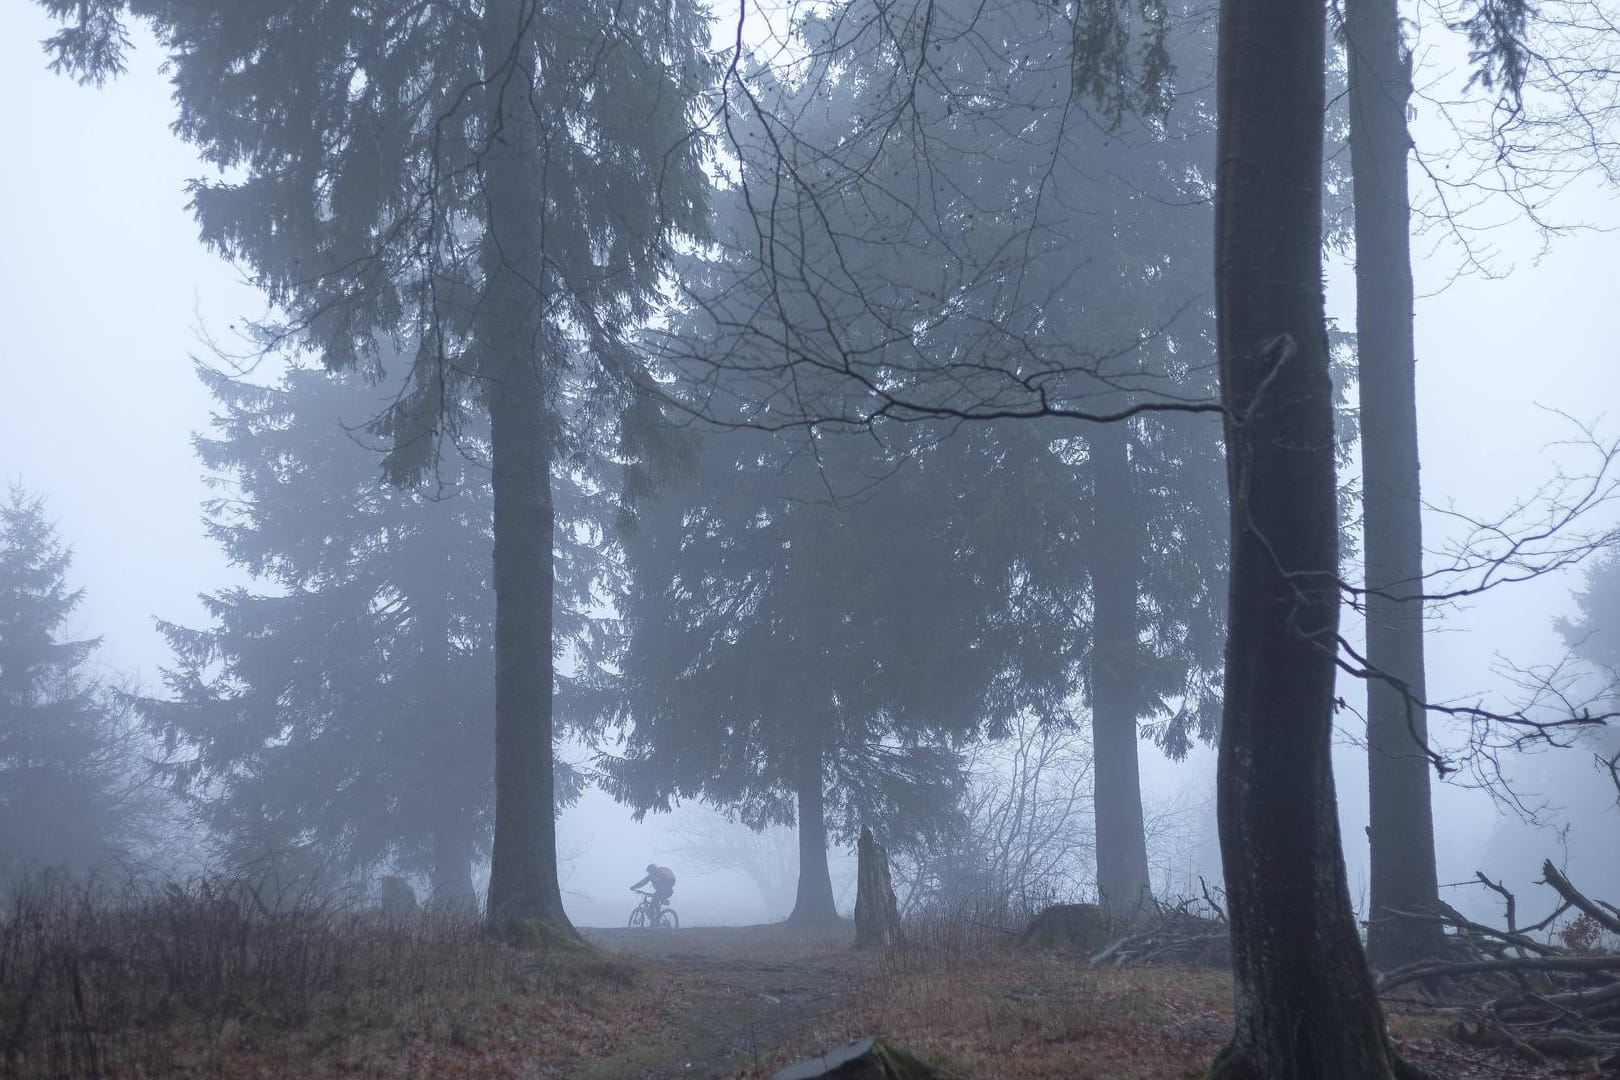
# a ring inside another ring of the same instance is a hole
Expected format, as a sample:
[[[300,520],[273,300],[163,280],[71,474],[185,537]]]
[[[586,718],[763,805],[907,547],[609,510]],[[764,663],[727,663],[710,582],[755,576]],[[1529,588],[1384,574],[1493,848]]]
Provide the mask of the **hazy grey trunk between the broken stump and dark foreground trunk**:
[[[1111,915],[1132,918],[1149,899],[1147,836],[1137,767],[1136,588],[1140,529],[1131,484],[1129,424],[1089,437],[1097,555],[1092,572],[1092,776],[1097,892]]]

